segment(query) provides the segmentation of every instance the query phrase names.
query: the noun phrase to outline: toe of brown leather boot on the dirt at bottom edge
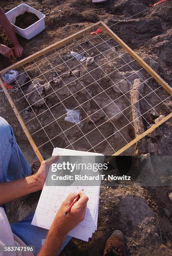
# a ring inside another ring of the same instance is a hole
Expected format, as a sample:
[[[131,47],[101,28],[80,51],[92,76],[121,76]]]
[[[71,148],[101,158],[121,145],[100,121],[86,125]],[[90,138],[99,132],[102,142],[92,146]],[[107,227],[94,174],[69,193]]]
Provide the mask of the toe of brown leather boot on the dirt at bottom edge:
[[[123,233],[115,230],[107,239],[103,256],[126,256],[127,245]]]

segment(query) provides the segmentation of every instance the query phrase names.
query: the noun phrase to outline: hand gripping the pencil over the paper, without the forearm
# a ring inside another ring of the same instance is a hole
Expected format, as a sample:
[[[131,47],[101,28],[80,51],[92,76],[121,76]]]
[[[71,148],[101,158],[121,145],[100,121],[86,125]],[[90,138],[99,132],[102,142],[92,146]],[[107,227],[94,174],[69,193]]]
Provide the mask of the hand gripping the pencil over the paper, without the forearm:
[[[70,194],[56,213],[54,223],[52,225],[58,225],[60,232],[64,232],[64,234],[68,234],[70,230],[75,228],[84,220],[88,197],[83,191],[80,191],[79,195],[80,199],[72,206],[71,210],[66,216],[64,213],[66,212],[68,206],[70,206],[74,199],[78,196],[77,193]]]

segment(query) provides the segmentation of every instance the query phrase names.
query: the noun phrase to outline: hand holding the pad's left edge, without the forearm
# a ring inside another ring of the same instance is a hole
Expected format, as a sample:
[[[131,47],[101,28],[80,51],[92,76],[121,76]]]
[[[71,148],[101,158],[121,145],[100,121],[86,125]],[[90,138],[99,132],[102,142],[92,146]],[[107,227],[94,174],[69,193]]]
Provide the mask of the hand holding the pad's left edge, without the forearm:
[[[37,180],[38,189],[41,190],[45,183],[45,179],[49,170],[49,166],[56,161],[58,161],[59,156],[52,156],[48,158],[46,161],[42,161],[39,170],[34,174]]]

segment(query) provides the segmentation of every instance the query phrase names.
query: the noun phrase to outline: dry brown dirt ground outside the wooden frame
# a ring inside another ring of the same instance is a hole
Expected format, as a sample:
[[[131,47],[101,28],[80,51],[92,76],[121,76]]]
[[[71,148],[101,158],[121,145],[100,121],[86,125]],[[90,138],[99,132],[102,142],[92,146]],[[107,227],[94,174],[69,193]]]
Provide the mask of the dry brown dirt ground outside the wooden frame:
[[[23,57],[102,20],[108,26],[117,23],[111,26],[111,29],[171,85],[172,1],[169,0],[151,9],[148,9],[150,1],[147,0],[109,0],[105,4],[96,6],[91,2],[90,0],[54,1],[53,3],[46,0],[24,1],[46,14],[46,28],[30,41],[19,37],[25,48]],[[0,1],[0,6],[5,12],[19,4],[21,1]],[[143,10],[146,11],[142,12]],[[12,46],[2,28],[0,28],[0,38],[2,43]],[[0,58],[0,69],[18,61],[17,59],[8,60],[2,56]],[[27,138],[4,95],[1,95],[0,104],[0,115],[12,125],[16,139],[30,162],[34,157],[33,150],[28,145]],[[171,106],[171,102],[168,104]],[[124,155],[147,153],[171,155],[171,127],[171,120],[168,120],[159,127],[158,132],[144,138]],[[50,152],[45,151],[45,155],[50,155]],[[170,168],[169,170],[171,171]],[[168,197],[171,192],[172,187],[111,186],[106,188],[102,186],[97,232],[88,243],[78,240],[70,242],[69,255],[102,255],[105,241],[114,229],[119,229],[126,235],[129,255],[171,255],[172,205]],[[32,212],[39,195],[38,192],[30,195],[29,198],[10,203],[9,220],[11,222],[21,220]]]

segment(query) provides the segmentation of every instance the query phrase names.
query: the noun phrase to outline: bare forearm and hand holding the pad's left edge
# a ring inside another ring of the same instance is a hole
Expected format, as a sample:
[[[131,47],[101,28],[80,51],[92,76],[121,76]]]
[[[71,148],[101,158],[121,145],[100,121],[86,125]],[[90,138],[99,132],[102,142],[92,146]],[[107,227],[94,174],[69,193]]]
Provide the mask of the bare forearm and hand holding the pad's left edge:
[[[43,161],[36,174],[11,182],[0,183],[0,205],[41,190],[49,166],[57,161],[58,158],[59,156],[56,156]]]

